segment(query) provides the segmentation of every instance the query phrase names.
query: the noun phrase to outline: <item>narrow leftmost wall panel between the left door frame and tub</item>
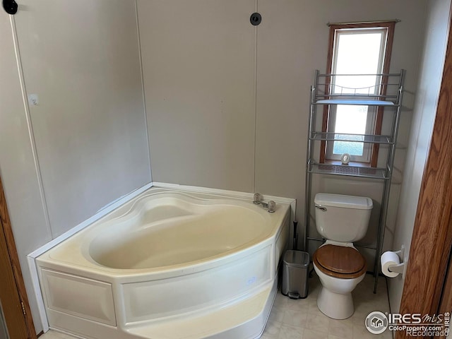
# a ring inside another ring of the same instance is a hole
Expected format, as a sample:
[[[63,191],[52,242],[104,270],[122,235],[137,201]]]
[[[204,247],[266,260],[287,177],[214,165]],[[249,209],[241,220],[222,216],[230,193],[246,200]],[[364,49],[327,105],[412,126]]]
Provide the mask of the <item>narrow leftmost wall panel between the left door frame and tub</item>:
[[[41,201],[27,117],[20,92],[8,14],[0,11],[0,175],[37,332],[42,330],[26,255],[52,240]]]

